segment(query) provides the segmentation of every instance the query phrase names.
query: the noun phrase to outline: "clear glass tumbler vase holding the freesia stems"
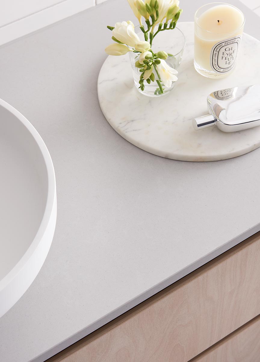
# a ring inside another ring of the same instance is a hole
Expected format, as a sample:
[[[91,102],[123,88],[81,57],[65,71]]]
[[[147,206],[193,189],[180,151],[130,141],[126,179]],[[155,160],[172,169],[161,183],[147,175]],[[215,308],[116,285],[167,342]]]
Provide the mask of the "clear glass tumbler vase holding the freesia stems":
[[[154,33],[157,31],[158,26],[155,28]],[[135,27],[135,33],[138,35],[138,37],[141,40],[144,40],[144,34],[140,30],[139,26]],[[177,27],[172,30],[164,30],[160,31],[156,35],[156,37],[153,39],[152,42],[152,50],[154,53],[157,53],[158,51],[165,51],[168,53],[168,58],[165,60],[165,62],[175,70],[179,70],[179,66],[181,64],[182,60],[182,54],[185,47],[185,36],[182,33],[181,30],[179,30]],[[129,52],[129,58],[131,63],[131,68],[133,71],[133,77],[134,77],[134,84],[135,87],[138,89],[138,91],[145,96],[148,97],[161,97],[165,94],[168,94],[173,87],[175,86],[175,83],[178,83],[178,80],[176,82],[173,82],[170,88],[166,88],[165,85],[160,80],[159,76],[156,73],[156,70],[153,71],[155,75],[155,81],[151,82],[151,84],[148,84],[146,81],[144,81],[145,87],[144,90],[139,89],[140,84],[140,69],[136,68],[135,62],[139,60],[139,53]],[[177,74],[178,77],[178,74]],[[157,81],[160,81],[163,93],[161,93],[159,85]]]

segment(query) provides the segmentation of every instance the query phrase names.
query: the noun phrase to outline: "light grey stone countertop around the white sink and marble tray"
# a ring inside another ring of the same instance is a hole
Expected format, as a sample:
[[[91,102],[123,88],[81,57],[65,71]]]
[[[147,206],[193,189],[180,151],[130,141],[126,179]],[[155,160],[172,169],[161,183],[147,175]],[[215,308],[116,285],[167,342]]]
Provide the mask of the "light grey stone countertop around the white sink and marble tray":
[[[205,2],[183,0],[182,21]],[[230,2],[259,38],[256,14]],[[260,230],[260,149],[173,161],[105,120],[96,87],[105,26],[129,18],[126,1],[110,0],[0,49],[0,98],[44,139],[58,200],[43,268],[0,319],[1,362],[44,361]]]

